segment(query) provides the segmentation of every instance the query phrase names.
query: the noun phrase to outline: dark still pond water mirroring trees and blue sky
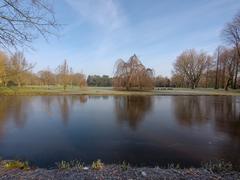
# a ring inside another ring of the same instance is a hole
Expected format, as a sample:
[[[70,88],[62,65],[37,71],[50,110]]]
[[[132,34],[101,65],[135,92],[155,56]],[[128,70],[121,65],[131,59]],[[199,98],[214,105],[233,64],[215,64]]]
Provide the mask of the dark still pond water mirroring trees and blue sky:
[[[0,156],[40,167],[240,164],[240,97],[0,97]]]

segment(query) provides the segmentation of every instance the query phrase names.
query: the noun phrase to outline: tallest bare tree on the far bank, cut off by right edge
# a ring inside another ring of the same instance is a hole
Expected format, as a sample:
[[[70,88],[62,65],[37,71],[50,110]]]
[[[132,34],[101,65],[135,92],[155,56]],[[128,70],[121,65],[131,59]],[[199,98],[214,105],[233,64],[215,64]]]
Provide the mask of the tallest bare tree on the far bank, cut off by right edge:
[[[234,66],[234,80],[233,80],[233,88],[237,87],[237,78],[239,72],[239,59],[240,59],[240,12],[234,17],[232,22],[226,24],[223,29],[222,36],[224,40],[233,45],[238,58],[235,58]]]

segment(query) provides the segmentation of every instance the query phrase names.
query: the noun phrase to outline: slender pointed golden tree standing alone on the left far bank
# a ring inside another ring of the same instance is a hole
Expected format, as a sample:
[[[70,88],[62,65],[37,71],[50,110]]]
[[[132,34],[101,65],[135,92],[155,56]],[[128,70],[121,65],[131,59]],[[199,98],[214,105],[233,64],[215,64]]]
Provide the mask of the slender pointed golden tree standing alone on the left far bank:
[[[67,85],[69,84],[69,67],[67,60],[64,60],[62,65],[59,65],[57,68],[59,83],[63,86],[63,89],[66,90]]]

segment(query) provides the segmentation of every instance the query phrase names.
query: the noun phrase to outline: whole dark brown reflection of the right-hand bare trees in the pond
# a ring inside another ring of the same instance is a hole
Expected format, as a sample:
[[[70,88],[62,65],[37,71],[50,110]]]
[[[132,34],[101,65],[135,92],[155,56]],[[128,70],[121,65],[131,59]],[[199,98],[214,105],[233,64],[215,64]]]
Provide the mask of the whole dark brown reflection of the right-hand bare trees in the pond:
[[[229,138],[216,139],[220,159],[235,164],[240,163],[240,99],[230,96],[194,96],[173,97],[174,112],[178,122],[185,126],[204,124],[208,120],[214,123],[213,131]],[[223,136],[224,137],[224,136]]]

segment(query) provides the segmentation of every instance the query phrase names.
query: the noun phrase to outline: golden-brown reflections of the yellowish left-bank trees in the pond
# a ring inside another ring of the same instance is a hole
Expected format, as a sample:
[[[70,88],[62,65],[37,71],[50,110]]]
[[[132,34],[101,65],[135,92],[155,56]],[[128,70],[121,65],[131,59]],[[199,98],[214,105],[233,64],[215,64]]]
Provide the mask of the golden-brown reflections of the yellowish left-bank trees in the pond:
[[[26,121],[31,119],[29,112],[34,108],[32,103],[37,106],[36,108],[43,108],[49,117],[58,109],[62,122],[67,125],[71,108],[78,103],[84,104],[88,100],[88,96],[42,96],[37,97],[41,99],[41,103],[35,104],[33,102],[35,98],[31,96],[0,97],[0,138],[4,135],[4,126],[8,121],[13,121],[17,128],[25,126]],[[33,116],[33,114],[30,115]]]

